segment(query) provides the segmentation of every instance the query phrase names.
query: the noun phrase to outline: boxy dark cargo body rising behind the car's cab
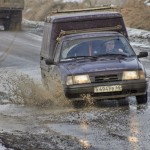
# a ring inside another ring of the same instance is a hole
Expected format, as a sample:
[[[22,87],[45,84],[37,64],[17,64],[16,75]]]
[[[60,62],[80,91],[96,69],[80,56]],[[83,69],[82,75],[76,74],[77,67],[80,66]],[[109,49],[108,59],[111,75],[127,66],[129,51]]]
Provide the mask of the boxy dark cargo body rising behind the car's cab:
[[[92,31],[117,31],[128,38],[123,18],[118,12],[56,14],[48,16],[45,21],[41,55],[45,58],[52,56],[57,38],[61,35]]]

